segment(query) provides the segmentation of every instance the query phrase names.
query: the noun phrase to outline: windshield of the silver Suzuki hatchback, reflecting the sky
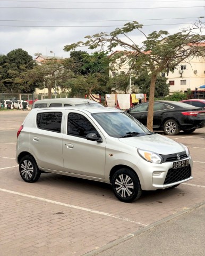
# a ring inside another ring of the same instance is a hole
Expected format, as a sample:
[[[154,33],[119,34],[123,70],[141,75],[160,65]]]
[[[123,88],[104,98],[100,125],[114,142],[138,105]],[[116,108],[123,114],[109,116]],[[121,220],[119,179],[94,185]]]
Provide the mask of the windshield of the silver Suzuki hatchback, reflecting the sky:
[[[153,134],[153,132],[125,112],[96,113],[92,114],[92,116],[106,133],[114,138]]]

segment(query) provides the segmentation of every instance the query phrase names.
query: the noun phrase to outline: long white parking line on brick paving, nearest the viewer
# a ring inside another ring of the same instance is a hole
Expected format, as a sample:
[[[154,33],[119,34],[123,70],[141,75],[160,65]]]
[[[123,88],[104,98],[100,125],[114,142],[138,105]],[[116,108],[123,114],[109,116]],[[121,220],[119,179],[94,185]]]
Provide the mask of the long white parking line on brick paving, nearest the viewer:
[[[0,188],[0,191],[11,193],[11,194],[15,194],[15,195],[19,195],[19,196],[25,196],[25,197],[37,199],[37,200],[48,202],[48,203],[52,203],[52,204],[63,205],[63,206],[66,206],[66,207],[71,207],[71,208],[82,210],[82,211],[87,211],[87,212],[91,212],[91,213],[105,215],[107,217],[111,217],[111,218],[115,218],[115,219],[119,219],[119,220],[124,220],[124,221],[129,221],[129,222],[132,222],[132,223],[135,223],[135,224],[139,224],[139,225],[142,225],[142,226],[148,226],[149,225],[149,224],[144,224],[144,223],[141,223],[141,222],[129,220],[129,219],[124,218],[124,217],[115,216],[115,215],[110,214],[110,213],[95,211],[95,210],[91,210],[91,209],[88,209],[88,208],[84,208],[84,207],[80,207],[80,206],[76,206],[76,205],[72,205],[72,204],[65,204],[65,203],[61,203],[61,202],[58,202],[58,201],[49,200],[49,199],[46,199],[46,198],[43,198],[43,197],[31,196],[31,195],[27,195],[27,194],[23,194],[23,193],[19,193],[19,192],[16,192],[16,191],[3,189],[3,188]]]

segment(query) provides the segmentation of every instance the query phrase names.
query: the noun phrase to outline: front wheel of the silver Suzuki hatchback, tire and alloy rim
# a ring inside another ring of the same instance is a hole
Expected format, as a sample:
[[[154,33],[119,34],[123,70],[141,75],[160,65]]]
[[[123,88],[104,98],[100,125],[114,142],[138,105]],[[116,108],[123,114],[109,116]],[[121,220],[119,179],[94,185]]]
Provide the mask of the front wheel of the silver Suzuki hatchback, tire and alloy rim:
[[[131,203],[140,198],[142,194],[138,176],[128,168],[116,171],[111,183],[114,194],[119,201]]]

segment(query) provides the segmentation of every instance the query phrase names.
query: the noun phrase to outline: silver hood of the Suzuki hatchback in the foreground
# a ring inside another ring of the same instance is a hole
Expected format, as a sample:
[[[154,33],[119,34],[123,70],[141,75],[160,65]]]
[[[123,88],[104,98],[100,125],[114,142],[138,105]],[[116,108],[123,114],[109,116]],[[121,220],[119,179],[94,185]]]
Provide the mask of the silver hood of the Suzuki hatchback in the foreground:
[[[135,148],[146,149],[161,155],[180,153],[185,150],[180,143],[159,134],[120,138],[119,141]]]

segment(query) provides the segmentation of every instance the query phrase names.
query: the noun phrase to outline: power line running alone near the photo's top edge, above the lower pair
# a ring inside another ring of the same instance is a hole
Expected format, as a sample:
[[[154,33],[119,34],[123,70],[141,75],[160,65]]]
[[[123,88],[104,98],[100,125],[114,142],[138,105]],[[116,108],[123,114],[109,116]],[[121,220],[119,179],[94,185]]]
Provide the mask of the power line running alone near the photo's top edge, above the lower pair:
[[[0,6],[1,8],[13,9],[70,9],[70,10],[130,10],[130,9],[178,9],[178,8],[201,8],[204,6],[176,6],[176,7],[114,7],[114,8],[79,8],[79,7],[18,7],[18,6]]]

